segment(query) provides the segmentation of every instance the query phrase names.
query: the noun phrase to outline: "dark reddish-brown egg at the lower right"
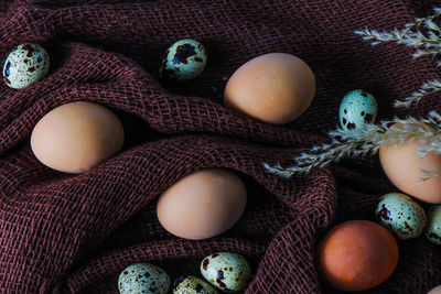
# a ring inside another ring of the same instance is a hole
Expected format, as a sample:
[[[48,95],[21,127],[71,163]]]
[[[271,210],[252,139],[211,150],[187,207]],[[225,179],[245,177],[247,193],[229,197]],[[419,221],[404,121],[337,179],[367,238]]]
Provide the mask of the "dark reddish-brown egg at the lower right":
[[[343,291],[363,291],[381,284],[397,263],[398,246],[392,235],[368,220],[336,226],[319,246],[323,280]]]

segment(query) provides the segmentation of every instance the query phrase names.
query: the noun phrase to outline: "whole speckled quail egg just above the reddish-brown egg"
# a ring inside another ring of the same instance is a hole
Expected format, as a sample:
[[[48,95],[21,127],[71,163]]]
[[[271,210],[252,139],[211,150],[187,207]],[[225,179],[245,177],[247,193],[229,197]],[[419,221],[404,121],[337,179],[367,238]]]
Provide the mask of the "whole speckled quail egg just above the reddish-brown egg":
[[[418,237],[426,227],[424,209],[411,197],[401,193],[389,193],[379,198],[376,209],[378,222],[398,238]]]

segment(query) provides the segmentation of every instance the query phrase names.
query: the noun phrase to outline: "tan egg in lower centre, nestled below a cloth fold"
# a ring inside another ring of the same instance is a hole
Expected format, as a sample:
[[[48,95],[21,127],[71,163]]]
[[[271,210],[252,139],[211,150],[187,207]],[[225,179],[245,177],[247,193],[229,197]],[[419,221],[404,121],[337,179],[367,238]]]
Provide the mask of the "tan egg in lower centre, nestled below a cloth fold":
[[[162,227],[178,237],[206,239],[233,227],[246,203],[245,185],[237,175],[207,168],[170,186],[159,197],[157,215]]]

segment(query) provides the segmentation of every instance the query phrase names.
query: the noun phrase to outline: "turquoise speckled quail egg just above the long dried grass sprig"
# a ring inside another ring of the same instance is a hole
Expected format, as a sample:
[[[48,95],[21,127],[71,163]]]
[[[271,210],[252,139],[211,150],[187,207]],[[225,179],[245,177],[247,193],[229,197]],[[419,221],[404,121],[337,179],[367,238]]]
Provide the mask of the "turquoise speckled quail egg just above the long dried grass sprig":
[[[344,131],[361,128],[364,123],[375,122],[377,101],[364,90],[353,90],[343,97],[338,110],[340,124]]]

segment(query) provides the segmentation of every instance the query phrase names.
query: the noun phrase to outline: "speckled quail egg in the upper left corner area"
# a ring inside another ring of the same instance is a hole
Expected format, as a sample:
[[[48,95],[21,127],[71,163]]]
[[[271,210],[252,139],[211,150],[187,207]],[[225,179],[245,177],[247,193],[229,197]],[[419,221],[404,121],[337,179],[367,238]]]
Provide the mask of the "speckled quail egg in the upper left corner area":
[[[4,61],[3,80],[14,89],[42,79],[50,69],[47,52],[37,44],[24,43],[11,51]]]

